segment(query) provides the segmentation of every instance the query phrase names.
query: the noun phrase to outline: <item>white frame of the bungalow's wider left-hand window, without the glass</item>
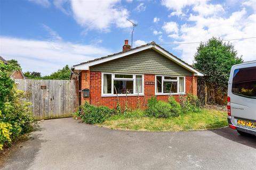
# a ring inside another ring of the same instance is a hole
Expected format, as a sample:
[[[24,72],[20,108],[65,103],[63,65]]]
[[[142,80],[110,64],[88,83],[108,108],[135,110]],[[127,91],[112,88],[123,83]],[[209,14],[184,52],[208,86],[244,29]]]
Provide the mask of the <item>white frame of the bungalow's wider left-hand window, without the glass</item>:
[[[111,94],[103,94],[103,75],[104,74],[111,74]],[[125,75],[132,75],[132,78],[115,78],[115,74],[125,74]],[[144,96],[144,74],[130,74],[130,73],[101,73],[101,97],[113,97],[113,96],[138,96],[136,92],[136,75],[142,76],[142,93],[139,93],[139,96]],[[133,80],[133,91],[134,94],[114,94],[114,80]]]

